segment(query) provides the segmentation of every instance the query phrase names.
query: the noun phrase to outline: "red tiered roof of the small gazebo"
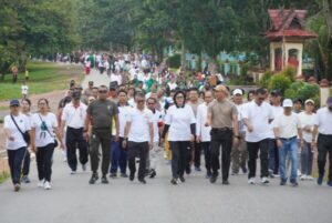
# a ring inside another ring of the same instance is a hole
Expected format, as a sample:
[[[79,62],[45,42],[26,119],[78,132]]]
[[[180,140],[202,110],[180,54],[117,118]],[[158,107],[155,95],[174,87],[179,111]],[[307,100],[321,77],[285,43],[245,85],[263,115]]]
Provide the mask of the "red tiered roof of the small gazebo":
[[[282,9],[269,10],[272,21],[270,31],[266,32],[268,39],[281,37],[317,38],[313,32],[304,30],[305,10]],[[297,26],[291,26],[294,22]]]

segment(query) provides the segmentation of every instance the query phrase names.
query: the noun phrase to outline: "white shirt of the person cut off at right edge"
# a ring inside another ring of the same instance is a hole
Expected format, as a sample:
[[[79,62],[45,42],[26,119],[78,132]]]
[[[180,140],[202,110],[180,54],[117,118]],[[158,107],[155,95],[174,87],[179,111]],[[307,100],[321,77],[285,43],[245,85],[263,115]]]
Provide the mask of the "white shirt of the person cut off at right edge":
[[[318,125],[319,133],[332,134],[332,112],[326,107],[318,110],[314,125]]]

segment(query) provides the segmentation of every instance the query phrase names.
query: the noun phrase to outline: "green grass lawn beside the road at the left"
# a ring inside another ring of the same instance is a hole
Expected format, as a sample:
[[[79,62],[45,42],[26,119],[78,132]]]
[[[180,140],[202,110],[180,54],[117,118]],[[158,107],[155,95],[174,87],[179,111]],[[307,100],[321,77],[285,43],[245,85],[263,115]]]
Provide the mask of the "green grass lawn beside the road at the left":
[[[69,81],[74,79],[81,82],[84,78],[80,67],[59,65],[51,62],[29,62],[29,95],[63,90],[69,87]],[[12,75],[6,74],[0,82],[0,100],[21,98],[21,85],[24,73],[19,73],[15,84],[12,83]]]

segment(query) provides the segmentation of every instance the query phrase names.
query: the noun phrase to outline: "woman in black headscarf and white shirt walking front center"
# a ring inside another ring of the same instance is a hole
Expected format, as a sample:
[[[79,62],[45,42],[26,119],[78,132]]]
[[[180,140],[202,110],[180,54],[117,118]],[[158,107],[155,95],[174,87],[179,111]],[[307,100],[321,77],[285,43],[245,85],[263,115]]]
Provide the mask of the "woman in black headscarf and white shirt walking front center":
[[[174,94],[175,105],[170,107],[165,118],[163,139],[168,133],[172,151],[172,184],[177,184],[179,179],[185,182],[184,172],[187,162],[187,150],[194,142],[196,120],[193,109],[186,104],[186,93],[178,91]]]

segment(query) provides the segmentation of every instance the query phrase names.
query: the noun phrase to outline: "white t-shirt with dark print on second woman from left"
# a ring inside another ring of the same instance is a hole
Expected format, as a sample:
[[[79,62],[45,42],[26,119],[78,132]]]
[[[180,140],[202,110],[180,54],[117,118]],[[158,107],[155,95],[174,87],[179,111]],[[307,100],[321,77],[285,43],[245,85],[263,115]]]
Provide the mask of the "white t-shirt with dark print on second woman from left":
[[[48,126],[42,129],[42,121]],[[58,128],[58,121],[55,114],[49,112],[45,116],[35,113],[32,115],[32,125],[31,128],[35,129],[35,146],[43,148],[48,144],[54,143],[54,128]]]

